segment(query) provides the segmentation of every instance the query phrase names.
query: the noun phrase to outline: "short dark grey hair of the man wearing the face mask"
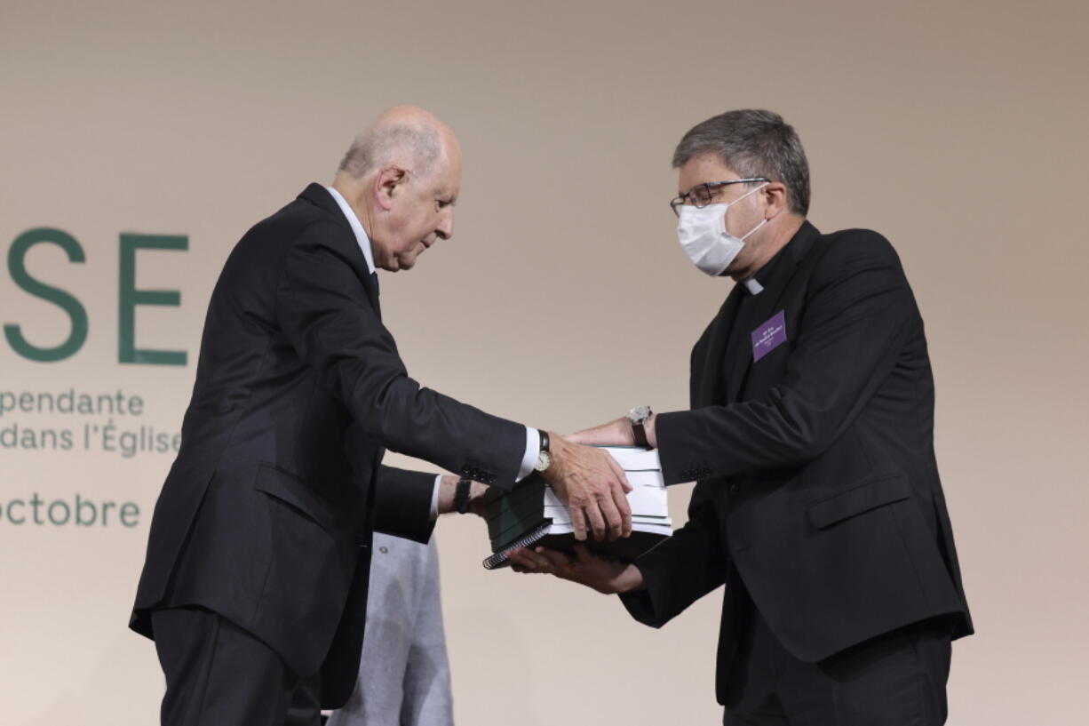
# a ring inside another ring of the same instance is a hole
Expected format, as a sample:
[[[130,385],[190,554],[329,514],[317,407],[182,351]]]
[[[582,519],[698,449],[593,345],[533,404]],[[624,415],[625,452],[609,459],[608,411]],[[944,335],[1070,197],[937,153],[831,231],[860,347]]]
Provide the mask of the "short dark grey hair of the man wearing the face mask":
[[[673,168],[703,154],[717,154],[743,178],[782,182],[791,211],[803,217],[809,211],[809,162],[794,126],[780,114],[742,109],[712,117],[684,135]]]

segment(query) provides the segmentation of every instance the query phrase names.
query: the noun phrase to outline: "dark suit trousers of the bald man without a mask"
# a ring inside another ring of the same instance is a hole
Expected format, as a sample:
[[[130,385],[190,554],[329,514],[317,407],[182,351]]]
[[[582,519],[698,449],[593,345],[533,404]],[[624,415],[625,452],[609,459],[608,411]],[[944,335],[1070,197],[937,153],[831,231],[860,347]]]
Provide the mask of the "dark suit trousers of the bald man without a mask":
[[[162,726],[317,726],[317,677],[299,678],[252,634],[201,608],[151,614],[167,676]]]

